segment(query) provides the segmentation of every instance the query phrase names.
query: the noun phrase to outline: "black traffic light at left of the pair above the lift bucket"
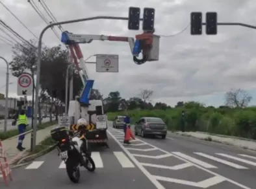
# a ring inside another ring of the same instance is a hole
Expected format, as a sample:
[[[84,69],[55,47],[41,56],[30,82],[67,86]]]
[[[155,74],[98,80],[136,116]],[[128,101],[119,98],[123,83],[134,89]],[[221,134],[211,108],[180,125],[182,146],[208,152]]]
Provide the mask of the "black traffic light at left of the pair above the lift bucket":
[[[139,7],[133,7],[133,6],[129,7],[128,29],[129,30],[140,29],[140,8]]]

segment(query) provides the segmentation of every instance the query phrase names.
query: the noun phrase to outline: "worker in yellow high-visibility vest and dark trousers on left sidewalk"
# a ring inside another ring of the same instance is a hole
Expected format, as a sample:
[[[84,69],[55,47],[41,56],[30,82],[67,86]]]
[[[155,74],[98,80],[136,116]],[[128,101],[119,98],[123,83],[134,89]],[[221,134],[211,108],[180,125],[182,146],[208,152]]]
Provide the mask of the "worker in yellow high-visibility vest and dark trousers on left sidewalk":
[[[19,139],[18,139],[17,149],[19,151],[25,150],[25,148],[22,147],[22,142],[25,138],[25,135],[21,135],[21,134],[25,133],[26,127],[27,127],[27,115],[25,114],[25,110],[21,109],[21,112],[19,113],[19,117],[18,117]]]

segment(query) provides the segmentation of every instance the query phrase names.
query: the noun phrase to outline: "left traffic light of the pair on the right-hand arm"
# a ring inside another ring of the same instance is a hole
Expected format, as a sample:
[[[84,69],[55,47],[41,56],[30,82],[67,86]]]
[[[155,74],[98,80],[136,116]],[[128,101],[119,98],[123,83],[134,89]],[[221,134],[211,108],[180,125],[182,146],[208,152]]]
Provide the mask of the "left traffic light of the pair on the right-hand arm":
[[[201,35],[202,34],[202,13],[191,12],[190,14],[190,34]]]

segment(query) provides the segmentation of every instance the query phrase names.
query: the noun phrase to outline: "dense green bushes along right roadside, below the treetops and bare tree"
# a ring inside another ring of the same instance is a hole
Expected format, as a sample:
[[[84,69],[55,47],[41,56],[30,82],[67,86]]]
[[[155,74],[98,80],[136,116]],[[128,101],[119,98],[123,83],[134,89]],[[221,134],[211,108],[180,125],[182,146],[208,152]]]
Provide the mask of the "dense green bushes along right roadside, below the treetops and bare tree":
[[[189,107],[173,108],[166,110],[131,110],[131,123],[141,117],[160,117],[171,131],[181,130],[181,112],[185,111],[185,130],[203,131],[219,135],[231,135],[256,139],[256,107],[246,109],[212,108],[212,107]],[[125,112],[108,113],[109,120],[114,120],[118,115]]]

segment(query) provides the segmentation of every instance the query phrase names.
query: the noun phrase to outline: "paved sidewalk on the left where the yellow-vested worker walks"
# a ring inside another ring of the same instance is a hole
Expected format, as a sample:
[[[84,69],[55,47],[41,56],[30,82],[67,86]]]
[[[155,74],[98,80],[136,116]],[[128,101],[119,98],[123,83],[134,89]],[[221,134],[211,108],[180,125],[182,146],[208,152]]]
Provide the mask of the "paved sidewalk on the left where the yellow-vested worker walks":
[[[42,140],[48,137],[50,135],[51,129],[56,126],[58,126],[58,124],[49,126],[48,128],[45,128],[42,130],[38,130],[36,132],[36,144],[39,144],[40,142],[42,142]],[[2,143],[3,143],[3,148],[6,152],[7,161],[9,162],[9,164],[12,164],[17,159],[21,157],[25,157],[25,155],[29,153],[29,151],[27,150],[31,149],[31,133],[28,133],[27,135],[25,135],[25,139],[23,140],[23,147],[26,149],[23,151],[19,151],[16,148],[18,144],[18,137],[14,139],[3,140]]]

